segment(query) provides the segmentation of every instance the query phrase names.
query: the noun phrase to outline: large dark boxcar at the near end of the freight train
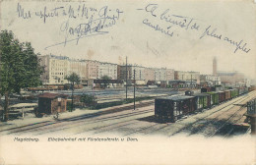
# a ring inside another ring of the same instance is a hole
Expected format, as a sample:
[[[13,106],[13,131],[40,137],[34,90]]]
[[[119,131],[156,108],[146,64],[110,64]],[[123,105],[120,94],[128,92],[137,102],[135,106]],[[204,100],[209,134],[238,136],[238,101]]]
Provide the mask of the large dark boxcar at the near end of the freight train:
[[[194,96],[169,96],[155,99],[155,118],[162,123],[175,122],[196,110]]]

